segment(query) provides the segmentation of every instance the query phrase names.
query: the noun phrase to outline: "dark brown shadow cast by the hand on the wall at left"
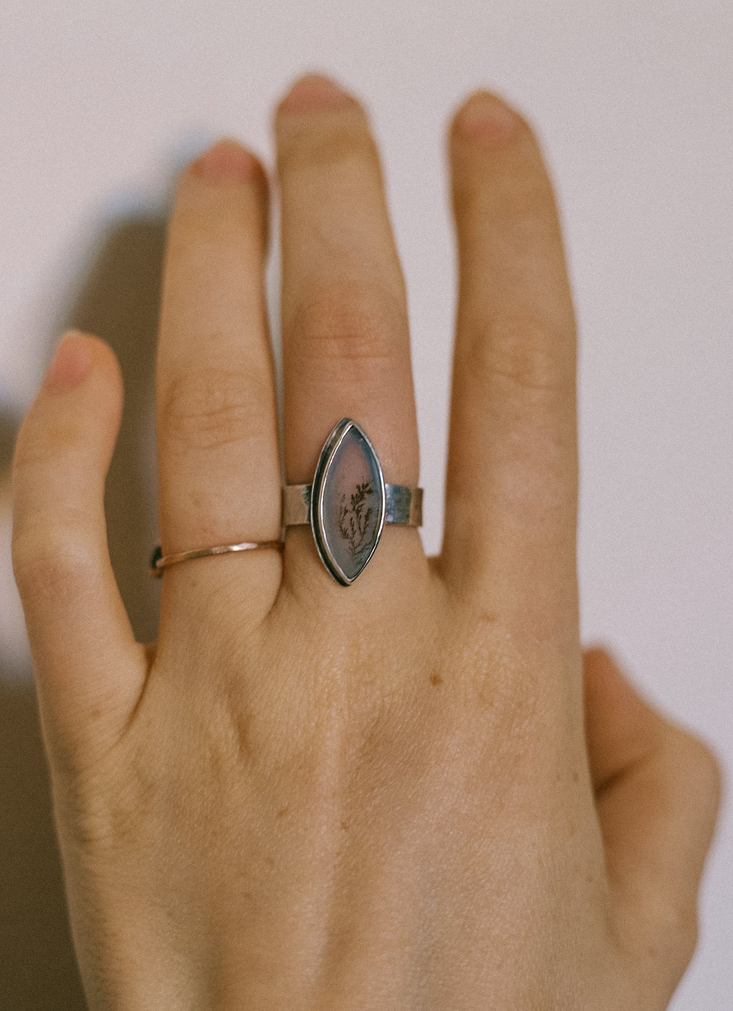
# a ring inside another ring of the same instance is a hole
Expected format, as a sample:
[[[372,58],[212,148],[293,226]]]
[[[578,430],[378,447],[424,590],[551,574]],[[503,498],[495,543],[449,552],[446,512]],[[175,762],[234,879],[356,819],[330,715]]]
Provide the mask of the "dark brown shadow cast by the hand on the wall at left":
[[[157,538],[154,361],[164,240],[163,218],[117,221],[62,307],[59,328],[103,338],[122,369],[125,405],[107,478],[107,537],[122,600],[143,642],[155,639],[158,628],[159,587],[147,564]],[[5,443],[9,449],[9,435]],[[8,462],[0,460],[0,476]],[[83,1011],[35,694],[30,678],[10,685],[2,670],[0,896],[0,1008]]]

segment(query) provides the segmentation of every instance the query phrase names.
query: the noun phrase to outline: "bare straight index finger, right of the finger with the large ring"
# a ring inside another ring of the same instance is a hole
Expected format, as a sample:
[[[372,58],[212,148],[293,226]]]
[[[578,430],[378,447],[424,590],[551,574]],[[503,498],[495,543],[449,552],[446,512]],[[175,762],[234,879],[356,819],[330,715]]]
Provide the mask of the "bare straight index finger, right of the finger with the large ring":
[[[474,95],[451,129],[459,306],[444,570],[574,601],[575,349],[552,188],[527,124]]]

